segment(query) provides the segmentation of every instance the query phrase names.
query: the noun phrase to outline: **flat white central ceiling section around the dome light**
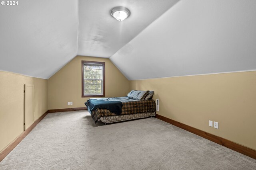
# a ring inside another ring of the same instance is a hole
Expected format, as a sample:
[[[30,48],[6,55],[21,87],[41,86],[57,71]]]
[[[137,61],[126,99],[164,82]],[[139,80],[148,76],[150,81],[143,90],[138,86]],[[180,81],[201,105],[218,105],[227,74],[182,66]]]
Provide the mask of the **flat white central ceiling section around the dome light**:
[[[109,58],[156,20],[178,0],[80,0],[78,55]],[[117,21],[110,15],[116,6],[131,15]]]

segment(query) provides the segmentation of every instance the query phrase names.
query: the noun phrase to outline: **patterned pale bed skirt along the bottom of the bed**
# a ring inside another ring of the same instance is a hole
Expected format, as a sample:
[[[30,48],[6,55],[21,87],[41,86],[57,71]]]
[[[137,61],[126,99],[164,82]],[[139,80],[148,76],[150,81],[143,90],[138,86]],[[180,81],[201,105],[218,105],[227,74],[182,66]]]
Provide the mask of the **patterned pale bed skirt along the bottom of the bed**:
[[[151,112],[145,112],[145,113],[104,116],[104,117],[100,117],[100,121],[102,121],[103,123],[114,123],[114,122],[118,122],[118,121],[140,119],[140,118],[145,118],[145,117],[150,117],[150,116],[156,116],[156,113],[154,111],[151,111]]]

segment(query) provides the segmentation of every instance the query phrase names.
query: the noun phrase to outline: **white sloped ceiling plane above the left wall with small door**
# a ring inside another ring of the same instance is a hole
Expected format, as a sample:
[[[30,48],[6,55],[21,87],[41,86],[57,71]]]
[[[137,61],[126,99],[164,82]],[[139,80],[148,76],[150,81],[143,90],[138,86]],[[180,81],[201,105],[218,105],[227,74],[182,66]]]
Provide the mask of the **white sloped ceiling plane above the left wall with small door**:
[[[49,78],[77,54],[78,0],[0,6],[0,70]]]

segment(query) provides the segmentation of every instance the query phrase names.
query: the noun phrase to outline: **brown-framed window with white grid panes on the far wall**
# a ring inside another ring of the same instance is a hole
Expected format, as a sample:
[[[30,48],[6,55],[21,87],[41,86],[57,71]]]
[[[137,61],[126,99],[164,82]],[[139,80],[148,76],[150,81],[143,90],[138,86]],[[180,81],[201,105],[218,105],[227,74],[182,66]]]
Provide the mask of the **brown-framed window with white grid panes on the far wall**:
[[[82,97],[105,96],[105,62],[82,61]]]

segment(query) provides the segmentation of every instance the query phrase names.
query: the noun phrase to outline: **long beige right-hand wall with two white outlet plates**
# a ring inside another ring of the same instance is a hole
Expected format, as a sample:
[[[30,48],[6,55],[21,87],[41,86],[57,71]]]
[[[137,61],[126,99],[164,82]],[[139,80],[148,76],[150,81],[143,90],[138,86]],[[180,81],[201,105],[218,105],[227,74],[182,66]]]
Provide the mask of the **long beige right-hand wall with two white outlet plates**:
[[[132,89],[154,90],[159,115],[256,150],[256,71],[133,80]]]

